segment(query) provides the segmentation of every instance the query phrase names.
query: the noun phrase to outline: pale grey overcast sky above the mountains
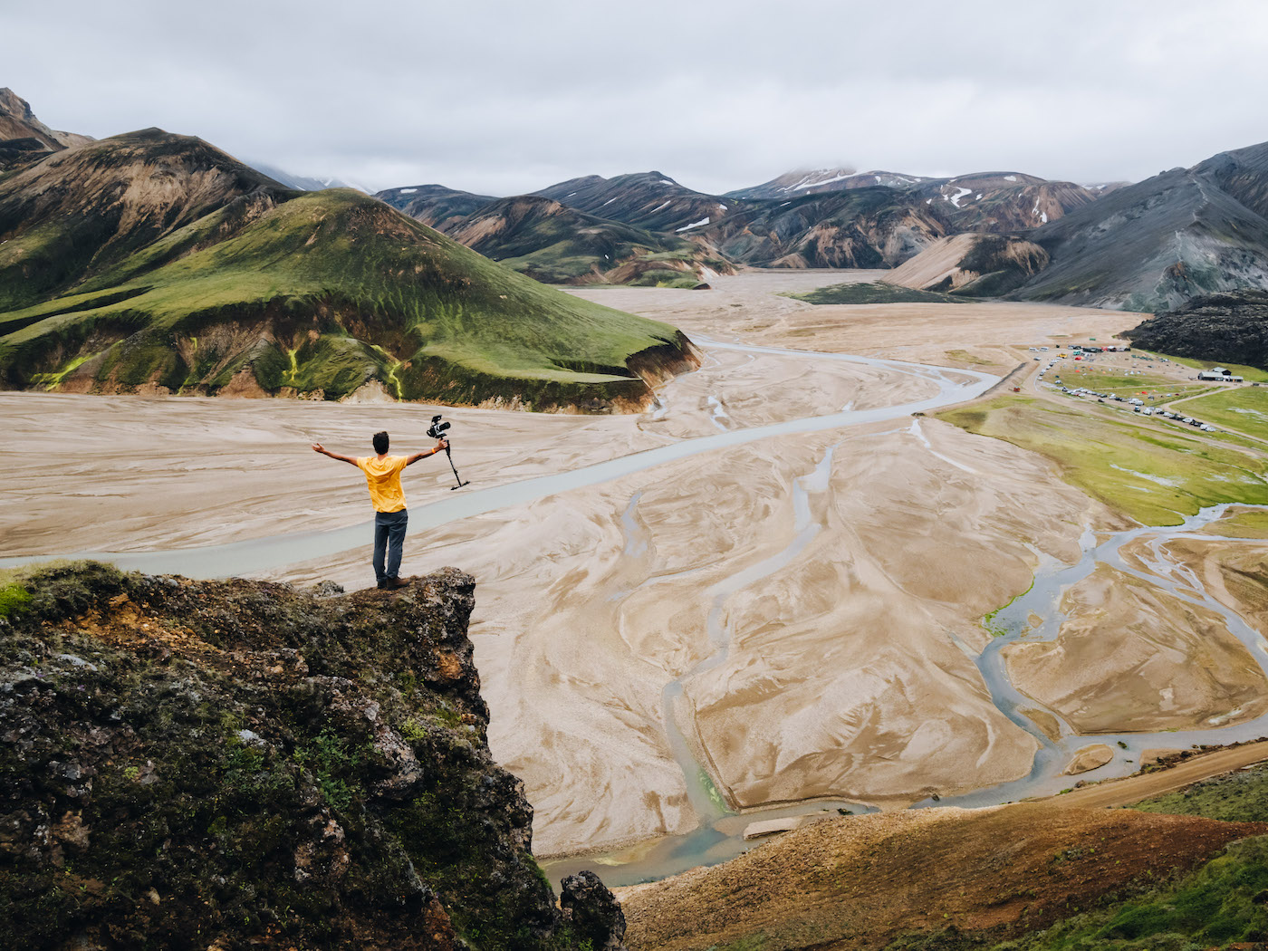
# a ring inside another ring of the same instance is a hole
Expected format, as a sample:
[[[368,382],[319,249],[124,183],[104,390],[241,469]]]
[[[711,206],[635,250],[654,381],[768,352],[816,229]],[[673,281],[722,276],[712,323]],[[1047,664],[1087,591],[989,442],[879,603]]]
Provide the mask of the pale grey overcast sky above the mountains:
[[[372,190],[656,169],[1139,180],[1268,139],[1268,3],[56,0],[0,4],[0,86]]]

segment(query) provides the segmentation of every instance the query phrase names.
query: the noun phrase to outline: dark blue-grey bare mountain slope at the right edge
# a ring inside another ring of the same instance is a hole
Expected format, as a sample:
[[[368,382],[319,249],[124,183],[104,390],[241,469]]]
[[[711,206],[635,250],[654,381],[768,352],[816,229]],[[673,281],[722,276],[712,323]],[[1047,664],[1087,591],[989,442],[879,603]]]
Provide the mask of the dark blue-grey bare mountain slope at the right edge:
[[[1168,311],[1268,287],[1268,143],[1221,152],[1116,189],[1028,237],[1051,264],[1018,293]]]

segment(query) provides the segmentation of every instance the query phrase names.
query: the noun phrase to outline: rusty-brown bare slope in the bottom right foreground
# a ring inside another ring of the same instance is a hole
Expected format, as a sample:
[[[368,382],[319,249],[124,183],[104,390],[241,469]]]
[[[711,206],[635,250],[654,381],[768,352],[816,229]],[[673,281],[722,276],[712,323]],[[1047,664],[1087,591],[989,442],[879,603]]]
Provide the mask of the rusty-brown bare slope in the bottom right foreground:
[[[1264,832],[1260,823],[1041,804],[833,819],[724,865],[624,890],[625,940],[631,951],[744,938],[763,951],[875,948],[952,924],[1003,940]]]

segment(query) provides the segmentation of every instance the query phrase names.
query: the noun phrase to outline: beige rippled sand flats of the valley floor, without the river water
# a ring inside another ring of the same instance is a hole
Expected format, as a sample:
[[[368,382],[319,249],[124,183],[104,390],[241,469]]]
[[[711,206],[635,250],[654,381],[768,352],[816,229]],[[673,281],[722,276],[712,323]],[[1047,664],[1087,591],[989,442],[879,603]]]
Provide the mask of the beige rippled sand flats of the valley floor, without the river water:
[[[810,307],[775,295],[843,276],[578,293],[714,340],[943,365],[959,351],[1000,372],[1028,345],[1135,322],[1036,304]],[[454,420],[454,459],[488,486],[932,393],[879,368],[708,356],[663,389],[663,410],[638,417],[440,410]],[[369,434],[388,429],[396,450],[422,448],[432,412],[0,394],[4,553],[356,524],[369,517],[359,473],[308,443],[369,451]],[[406,478],[411,503],[448,496],[451,479],[443,460],[424,460]],[[979,621],[1027,587],[1041,553],[1074,560],[1084,526],[1120,524],[1038,456],[908,417],[716,450],[417,533],[406,569],[455,564],[476,576],[472,637],[491,742],[525,780],[535,848],[549,855],[695,824],[662,690],[713,653],[716,592],[746,571],[756,579],[719,602],[727,659],[682,685],[687,739],[733,803],[831,794],[902,805],[1026,773],[1035,741],[995,710],[967,656],[984,643]],[[360,587],[372,581],[368,559],[354,549],[271,576]]]

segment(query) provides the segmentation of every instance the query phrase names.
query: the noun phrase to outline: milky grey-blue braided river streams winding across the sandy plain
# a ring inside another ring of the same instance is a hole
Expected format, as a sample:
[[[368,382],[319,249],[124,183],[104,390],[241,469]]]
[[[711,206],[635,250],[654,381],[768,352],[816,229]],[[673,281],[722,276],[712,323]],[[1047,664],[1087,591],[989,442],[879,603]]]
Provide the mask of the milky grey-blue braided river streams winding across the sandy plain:
[[[706,350],[739,350],[753,354],[798,356],[806,360],[839,360],[880,366],[928,380],[937,387],[937,393],[921,401],[889,407],[857,411],[847,406],[841,412],[824,416],[787,420],[742,430],[724,430],[708,436],[683,439],[678,443],[633,453],[571,472],[524,479],[491,488],[472,488],[469,491],[450,493],[437,502],[411,508],[410,531],[425,531],[430,527],[484,512],[609,482],[630,473],[716,449],[782,435],[839,430],[862,424],[909,418],[912,413],[931,412],[945,406],[973,399],[998,383],[997,377],[970,370],[951,370],[941,366],[846,354],[820,354],[716,341],[701,342]],[[718,416],[716,412],[715,416]],[[919,432],[919,420],[912,424],[912,431],[923,439]],[[743,838],[743,829],[749,823],[760,819],[803,815],[817,809],[828,810],[829,813],[834,813],[837,809],[853,813],[871,812],[867,805],[855,801],[818,800],[813,804],[795,803],[770,809],[747,810],[743,815],[735,815],[728,810],[723,796],[718,792],[710,779],[709,770],[699,762],[692,744],[687,741],[687,733],[694,727],[690,723],[690,704],[683,699],[683,680],[715,667],[727,659],[730,633],[725,629],[723,618],[725,616],[728,598],[791,563],[820,530],[819,522],[810,515],[810,497],[828,488],[833,450],[834,446],[828,448],[809,472],[792,482],[795,525],[794,536],[789,545],[766,560],[752,564],[742,572],[718,581],[701,591],[702,600],[710,605],[708,637],[713,653],[692,670],[666,683],[662,691],[666,735],[668,737],[675,758],[682,767],[691,805],[700,815],[699,827],[685,836],[667,836],[618,852],[544,862],[543,866],[552,879],[558,880],[562,875],[579,869],[598,871],[604,880],[612,886],[661,879],[699,865],[715,864],[739,855],[748,847],[748,843]],[[647,544],[645,539],[640,538],[638,522],[633,517],[638,500],[638,495],[630,500],[629,507],[621,519],[626,533],[625,549],[628,554],[637,554],[640,550],[640,545]],[[1186,519],[1182,525],[1136,527],[1116,533],[1103,540],[1098,540],[1090,530],[1085,531],[1082,539],[1082,557],[1073,566],[1064,564],[1046,555],[1040,557],[1040,566],[1032,587],[1011,605],[1002,609],[994,618],[995,629],[1003,630],[1003,633],[993,638],[980,653],[975,653],[967,645],[960,644],[961,649],[981,673],[995,706],[1013,723],[1035,737],[1038,751],[1035,756],[1033,767],[1027,776],[1019,780],[960,796],[943,798],[937,803],[938,805],[993,805],[1027,796],[1056,792],[1063,786],[1070,784],[1070,779],[1064,776],[1061,770],[1069,763],[1078,748],[1092,742],[1106,743],[1115,748],[1116,752],[1115,758],[1110,763],[1085,773],[1085,779],[1098,780],[1134,772],[1137,768],[1140,752],[1150,747],[1174,748],[1203,743],[1230,743],[1258,738],[1268,732],[1268,714],[1265,714],[1235,725],[1212,724],[1210,729],[1202,730],[1078,735],[1055,711],[1047,710],[1046,713],[1052,715],[1060,725],[1060,737],[1054,741],[1023,713],[1027,709],[1035,710],[1042,709],[1042,706],[1013,687],[1008,680],[1002,654],[1003,648],[1011,643],[1054,639],[1065,620],[1060,610],[1061,598],[1065,592],[1088,577],[1098,564],[1106,564],[1142,578],[1150,585],[1161,587],[1187,604],[1200,605],[1219,614],[1227,624],[1229,630],[1245,644],[1264,670],[1265,676],[1268,676],[1268,650],[1264,648],[1263,638],[1249,628],[1236,612],[1211,597],[1202,588],[1197,578],[1192,576],[1186,577],[1178,566],[1168,560],[1163,550],[1163,544],[1173,538],[1206,538],[1202,535],[1202,529],[1219,519],[1226,508],[1226,505],[1212,506]],[[251,574],[298,562],[336,555],[354,548],[364,547],[368,538],[369,522],[364,522],[330,531],[280,535],[205,548],[131,553],[86,552],[58,557],[94,558],[112,562],[129,571],[179,573],[191,578],[219,578],[233,574]],[[1127,566],[1120,554],[1120,549],[1125,544],[1137,539],[1146,539],[1150,543],[1148,547],[1149,552],[1145,555],[1149,573]],[[1221,536],[1219,540],[1236,541],[1238,539]],[[4,558],[0,559],[0,567],[13,567],[36,560],[42,559]],[[666,581],[667,577],[681,577],[682,574],[690,574],[692,571],[695,569],[686,569],[677,576],[659,576],[643,583],[659,583]],[[1041,623],[1032,626],[1030,619],[1035,616],[1040,618]],[[1229,711],[1227,715],[1235,714],[1236,711]],[[917,806],[933,804],[933,800],[924,800],[923,803],[918,803]]]

